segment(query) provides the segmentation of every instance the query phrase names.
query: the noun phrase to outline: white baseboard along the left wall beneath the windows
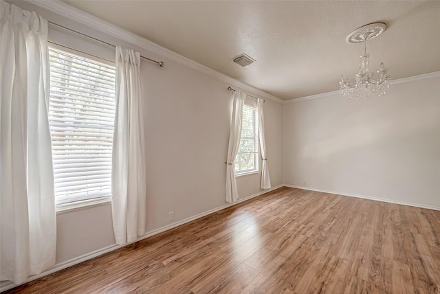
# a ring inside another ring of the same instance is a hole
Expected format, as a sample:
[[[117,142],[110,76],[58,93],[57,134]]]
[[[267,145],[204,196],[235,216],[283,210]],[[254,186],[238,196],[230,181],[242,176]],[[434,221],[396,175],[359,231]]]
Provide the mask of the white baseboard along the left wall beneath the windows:
[[[258,192],[256,194],[247,196],[247,197],[245,197],[243,199],[239,199],[238,201],[236,201],[234,203],[228,203],[228,204],[225,204],[225,205],[221,205],[220,207],[216,207],[216,208],[214,208],[212,210],[208,210],[206,212],[202,212],[201,214],[196,214],[195,216],[190,216],[189,218],[185,218],[184,220],[179,220],[176,223],[172,223],[170,225],[166,225],[164,227],[160,227],[159,229],[154,229],[153,231],[148,231],[143,236],[140,236],[139,238],[137,238],[137,240],[135,240],[134,242],[137,242],[137,241],[143,240],[145,238],[154,236],[156,234],[162,233],[163,231],[167,231],[168,229],[173,229],[174,227],[178,227],[179,225],[184,225],[185,223],[189,223],[190,221],[196,220],[197,218],[201,218],[203,216],[207,216],[208,214],[212,214],[214,212],[218,212],[220,210],[224,210],[225,208],[228,208],[228,207],[231,207],[233,205],[239,204],[241,202],[247,201],[249,199],[255,198],[256,196],[261,196],[261,195],[263,195],[263,194],[265,194],[267,192],[271,192],[271,191],[276,190],[278,188],[281,188],[283,186],[284,185],[277,185],[274,188],[263,190],[262,192]],[[33,281],[33,280],[36,280],[36,279],[39,279],[39,278],[42,278],[45,275],[50,275],[51,273],[54,273],[56,271],[61,271],[62,269],[66,269],[67,267],[72,267],[72,265],[78,264],[80,262],[84,262],[84,261],[89,260],[91,258],[96,258],[97,256],[100,256],[100,255],[102,255],[104,253],[113,251],[115,249],[119,249],[119,248],[124,247],[124,246],[129,245],[129,244],[131,244],[131,243],[127,243],[127,244],[124,244],[124,245],[110,245],[110,246],[104,247],[102,249],[98,249],[96,251],[84,254],[83,256],[78,256],[77,258],[72,258],[71,260],[67,260],[65,262],[61,262],[59,264],[55,264],[54,267],[52,267],[50,269],[47,269],[47,271],[44,271],[43,273],[40,273],[39,275],[32,275],[32,277],[28,278],[28,280],[23,282],[23,284],[28,283],[28,282]],[[12,288],[14,288],[16,286],[19,286],[19,285],[20,284],[14,284],[13,282],[10,282],[10,281],[2,281],[2,282],[0,282],[0,292],[12,289]]]

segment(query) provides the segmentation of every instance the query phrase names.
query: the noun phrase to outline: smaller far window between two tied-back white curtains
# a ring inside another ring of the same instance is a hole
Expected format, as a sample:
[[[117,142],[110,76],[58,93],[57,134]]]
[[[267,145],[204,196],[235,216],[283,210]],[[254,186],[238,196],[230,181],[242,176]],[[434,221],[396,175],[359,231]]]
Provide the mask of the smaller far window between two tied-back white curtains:
[[[259,170],[259,132],[256,107],[244,105],[239,152],[235,158],[235,174]]]

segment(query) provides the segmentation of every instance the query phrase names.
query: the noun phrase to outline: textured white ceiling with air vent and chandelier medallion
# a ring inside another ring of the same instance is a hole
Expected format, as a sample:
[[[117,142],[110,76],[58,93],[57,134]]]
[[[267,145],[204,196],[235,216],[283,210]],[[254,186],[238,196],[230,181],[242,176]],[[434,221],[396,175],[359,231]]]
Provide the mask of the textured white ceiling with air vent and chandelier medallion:
[[[387,26],[367,43],[371,71],[440,71],[440,1],[63,2],[283,100],[353,81],[363,47],[345,38],[368,23]],[[232,63],[242,53],[256,63]]]

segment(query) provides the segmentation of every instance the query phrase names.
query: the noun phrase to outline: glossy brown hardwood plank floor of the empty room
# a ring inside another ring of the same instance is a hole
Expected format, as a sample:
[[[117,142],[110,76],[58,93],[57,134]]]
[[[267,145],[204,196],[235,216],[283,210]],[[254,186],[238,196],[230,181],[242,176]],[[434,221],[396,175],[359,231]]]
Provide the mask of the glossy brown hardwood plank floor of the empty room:
[[[440,211],[280,188],[7,293],[440,293]]]

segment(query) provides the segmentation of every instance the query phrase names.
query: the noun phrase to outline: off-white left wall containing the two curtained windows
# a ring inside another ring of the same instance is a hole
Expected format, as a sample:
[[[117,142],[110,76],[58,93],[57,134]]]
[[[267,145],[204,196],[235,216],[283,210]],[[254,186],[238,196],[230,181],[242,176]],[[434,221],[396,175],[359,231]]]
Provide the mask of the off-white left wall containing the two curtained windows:
[[[141,65],[146,117],[148,234],[228,205],[225,202],[224,162],[232,113],[232,95],[227,88],[232,79],[225,82],[221,75],[206,74],[161,56],[157,50],[152,52],[103,34],[85,23],[64,18],[32,3],[11,2],[25,10],[36,11],[55,23],[138,50],[142,56],[165,61],[165,67],[158,67],[144,59]],[[67,38],[63,38],[63,29],[50,26],[50,40],[56,39],[76,49],[111,58],[109,46],[104,45],[107,48],[103,48],[102,44],[83,36],[64,33]],[[239,89],[234,84],[232,86]],[[247,89],[246,92],[262,97],[258,90]],[[275,187],[283,183],[283,105],[265,100],[267,154],[272,187]],[[261,174],[250,174],[237,179],[239,199],[264,192],[259,188],[260,177]],[[173,222],[168,220],[168,212],[171,211],[175,212]],[[114,246],[110,203],[58,213],[56,267],[80,261]]]

